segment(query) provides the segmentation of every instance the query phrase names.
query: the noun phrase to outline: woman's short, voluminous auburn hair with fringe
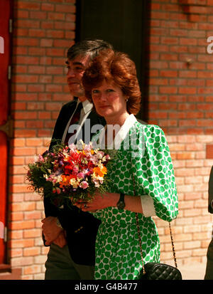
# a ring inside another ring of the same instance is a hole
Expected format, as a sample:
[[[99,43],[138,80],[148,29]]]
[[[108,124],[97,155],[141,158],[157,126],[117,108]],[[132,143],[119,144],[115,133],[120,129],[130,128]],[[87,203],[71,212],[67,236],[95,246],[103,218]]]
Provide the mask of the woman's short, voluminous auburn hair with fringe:
[[[136,115],[141,108],[141,90],[136,65],[127,54],[106,49],[92,60],[82,77],[85,95],[89,101],[92,101],[92,89],[101,85],[104,80],[121,88],[128,98],[126,110]]]

